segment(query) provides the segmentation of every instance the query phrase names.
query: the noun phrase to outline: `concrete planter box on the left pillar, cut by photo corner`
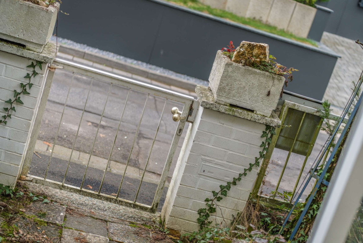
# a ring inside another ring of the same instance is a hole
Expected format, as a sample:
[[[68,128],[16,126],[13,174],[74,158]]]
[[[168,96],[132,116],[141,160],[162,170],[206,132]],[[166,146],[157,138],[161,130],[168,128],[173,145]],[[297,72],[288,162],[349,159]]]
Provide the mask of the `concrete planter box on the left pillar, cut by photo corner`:
[[[59,4],[57,7],[59,7]],[[0,0],[0,38],[41,52],[53,34],[57,9],[23,0]]]

